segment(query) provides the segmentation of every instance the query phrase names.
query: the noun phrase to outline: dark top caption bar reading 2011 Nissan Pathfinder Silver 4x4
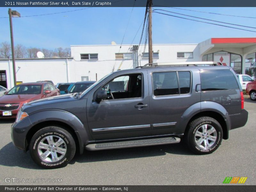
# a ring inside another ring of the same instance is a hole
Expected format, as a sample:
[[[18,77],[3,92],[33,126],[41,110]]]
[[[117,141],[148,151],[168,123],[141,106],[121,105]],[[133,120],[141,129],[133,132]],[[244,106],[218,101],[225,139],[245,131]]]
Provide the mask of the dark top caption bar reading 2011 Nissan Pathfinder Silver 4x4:
[[[147,0],[1,0],[0,7],[145,7]],[[156,7],[256,7],[255,0],[153,0]]]

